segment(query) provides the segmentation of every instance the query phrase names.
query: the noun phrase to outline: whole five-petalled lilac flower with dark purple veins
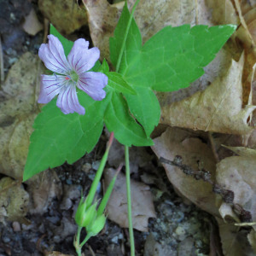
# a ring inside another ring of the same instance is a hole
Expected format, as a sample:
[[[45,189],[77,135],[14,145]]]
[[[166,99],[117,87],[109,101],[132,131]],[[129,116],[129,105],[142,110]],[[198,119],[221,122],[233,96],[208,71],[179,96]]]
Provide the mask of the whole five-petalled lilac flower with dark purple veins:
[[[96,101],[106,96],[103,88],[108,84],[108,77],[103,73],[87,72],[99,59],[100,50],[96,47],[88,49],[89,42],[78,39],[66,58],[59,39],[53,35],[48,38],[49,44],[42,44],[38,55],[45,67],[58,74],[41,76],[38,103],[48,103],[59,95],[57,107],[63,113],[84,114],[85,109],[79,104],[76,87]]]

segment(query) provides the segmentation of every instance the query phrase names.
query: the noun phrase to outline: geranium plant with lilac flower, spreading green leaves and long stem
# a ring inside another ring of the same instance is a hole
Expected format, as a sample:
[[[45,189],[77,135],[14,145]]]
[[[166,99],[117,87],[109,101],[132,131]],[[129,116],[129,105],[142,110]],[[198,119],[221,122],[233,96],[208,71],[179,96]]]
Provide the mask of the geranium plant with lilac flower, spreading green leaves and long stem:
[[[89,49],[84,39],[70,42],[51,26],[48,44],[39,49],[39,57],[52,72],[41,79],[38,102],[47,105],[35,119],[24,172],[25,181],[49,167],[79,160],[95,147],[106,125],[125,146],[131,255],[135,249],[129,147],[153,145],[150,134],[160,120],[160,103],[154,91],[188,87],[236,31],[233,25],[166,26],[142,44],[133,19],[137,3],[131,13],[125,3],[110,38],[115,71],[109,71],[107,61],[97,61],[99,49]],[[83,198],[81,205],[87,202]],[[96,207],[93,209],[90,211],[96,218]]]

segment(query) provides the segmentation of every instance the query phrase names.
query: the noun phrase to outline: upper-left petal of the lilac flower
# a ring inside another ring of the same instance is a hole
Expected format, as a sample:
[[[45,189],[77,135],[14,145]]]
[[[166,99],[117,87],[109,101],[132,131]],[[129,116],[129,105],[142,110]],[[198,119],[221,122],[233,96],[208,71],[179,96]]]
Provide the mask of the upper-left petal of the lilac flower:
[[[49,70],[65,74],[71,67],[67,62],[62,44],[58,38],[49,35],[49,44],[41,44],[39,48],[39,58],[44,61],[45,67]]]

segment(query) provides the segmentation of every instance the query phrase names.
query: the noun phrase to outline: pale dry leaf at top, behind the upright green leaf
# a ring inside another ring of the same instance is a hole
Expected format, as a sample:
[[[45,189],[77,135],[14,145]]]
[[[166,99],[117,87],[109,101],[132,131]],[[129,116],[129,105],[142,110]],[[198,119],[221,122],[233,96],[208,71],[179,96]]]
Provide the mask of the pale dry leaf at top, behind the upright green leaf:
[[[92,41],[101,49],[101,57],[109,60],[109,38],[113,36],[124,2],[118,4],[109,4],[107,0],[83,0],[83,2],[87,9]],[[135,2],[135,0],[128,1],[128,6],[131,8]],[[179,26],[185,23],[195,25],[195,14],[194,0],[141,0],[134,17],[145,42],[164,26]]]

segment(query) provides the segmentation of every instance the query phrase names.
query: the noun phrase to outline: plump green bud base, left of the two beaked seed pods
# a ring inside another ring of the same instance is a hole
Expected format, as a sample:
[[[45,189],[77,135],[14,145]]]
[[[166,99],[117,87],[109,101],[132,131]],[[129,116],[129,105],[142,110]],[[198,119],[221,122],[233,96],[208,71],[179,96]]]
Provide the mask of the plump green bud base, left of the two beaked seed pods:
[[[81,200],[82,201],[82,200]],[[96,204],[88,207],[86,200],[79,203],[78,210],[75,215],[75,221],[80,227],[86,227],[96,218]]]

